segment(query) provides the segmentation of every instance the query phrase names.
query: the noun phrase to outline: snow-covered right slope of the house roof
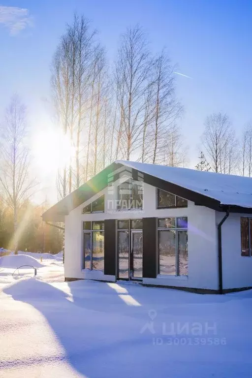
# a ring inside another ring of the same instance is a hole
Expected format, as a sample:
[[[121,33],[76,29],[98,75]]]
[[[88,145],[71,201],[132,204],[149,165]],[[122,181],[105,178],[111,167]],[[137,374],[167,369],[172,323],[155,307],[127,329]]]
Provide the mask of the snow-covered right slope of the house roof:
[[[250,177],[127,160],[117,160],[116,163],[216,199],[221,205],[252,208],[252,178]]]

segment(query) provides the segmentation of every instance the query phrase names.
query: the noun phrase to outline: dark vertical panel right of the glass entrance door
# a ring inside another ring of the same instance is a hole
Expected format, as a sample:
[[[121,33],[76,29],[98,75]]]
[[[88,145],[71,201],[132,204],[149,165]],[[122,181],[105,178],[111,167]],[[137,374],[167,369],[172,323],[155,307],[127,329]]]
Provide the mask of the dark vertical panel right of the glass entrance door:
[[[157,277],[156,218],[143,218],[143,278]]]

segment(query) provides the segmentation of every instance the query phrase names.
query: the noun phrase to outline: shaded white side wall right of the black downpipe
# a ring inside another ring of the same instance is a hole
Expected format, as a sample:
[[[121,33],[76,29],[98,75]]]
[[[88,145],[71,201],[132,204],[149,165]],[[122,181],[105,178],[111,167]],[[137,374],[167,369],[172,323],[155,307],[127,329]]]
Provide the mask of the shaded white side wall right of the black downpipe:
[[[217,213],[217,224],[223,216]],[[221,226],[223,289],[252,286],[252,257],[241,255],[241,217],[250,215],[230,213]]]

